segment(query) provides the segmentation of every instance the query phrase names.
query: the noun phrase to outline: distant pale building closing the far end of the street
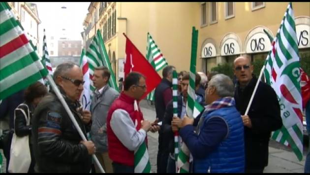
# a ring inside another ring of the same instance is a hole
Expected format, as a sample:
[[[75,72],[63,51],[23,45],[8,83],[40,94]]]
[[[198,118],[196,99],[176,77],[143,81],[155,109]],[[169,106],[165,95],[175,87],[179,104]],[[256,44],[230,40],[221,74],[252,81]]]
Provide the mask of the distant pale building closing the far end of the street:
[[[58,56],[80,56],[81,40],[58,40]]]

